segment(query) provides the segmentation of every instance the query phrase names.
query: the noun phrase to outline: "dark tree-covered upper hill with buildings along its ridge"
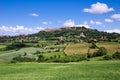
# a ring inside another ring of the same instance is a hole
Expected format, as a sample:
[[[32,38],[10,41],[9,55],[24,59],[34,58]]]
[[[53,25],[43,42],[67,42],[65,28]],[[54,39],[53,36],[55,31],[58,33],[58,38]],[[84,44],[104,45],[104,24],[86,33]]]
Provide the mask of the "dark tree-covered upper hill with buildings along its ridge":
[[[82,34],[82,35],[81,35]],[[82,38],[84,36],[84,38]],[[85,42],[91,41],[119,41],[120,34],[101,32],[96,29],[88,29],[83,27],[63,27],[58,29],[50,29],[49,31],[40,31],[30,35],[19,36],[1,36],[0,42],[26,42],[37,43],[40,40],[56,40],[56,44],[63,42]],[[57,42],[59,41],[59,42]]]

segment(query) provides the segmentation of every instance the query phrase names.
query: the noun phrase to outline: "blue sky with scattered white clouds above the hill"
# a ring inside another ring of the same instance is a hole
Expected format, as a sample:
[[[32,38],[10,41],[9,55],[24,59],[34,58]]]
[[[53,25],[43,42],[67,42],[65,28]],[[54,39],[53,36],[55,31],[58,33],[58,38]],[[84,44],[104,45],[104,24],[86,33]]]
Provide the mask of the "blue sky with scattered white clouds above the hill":
[[[120,0],[0,0],[0,35],[81,25],[120,33]]]

